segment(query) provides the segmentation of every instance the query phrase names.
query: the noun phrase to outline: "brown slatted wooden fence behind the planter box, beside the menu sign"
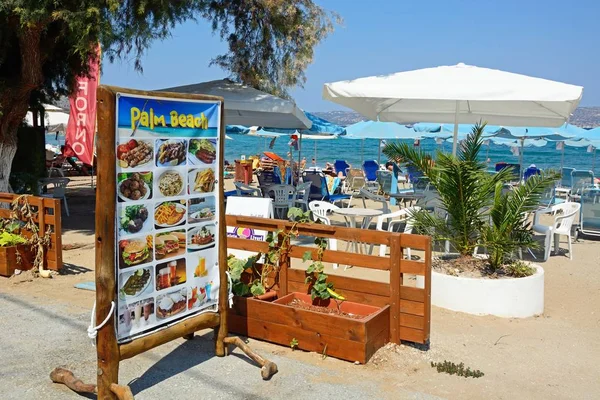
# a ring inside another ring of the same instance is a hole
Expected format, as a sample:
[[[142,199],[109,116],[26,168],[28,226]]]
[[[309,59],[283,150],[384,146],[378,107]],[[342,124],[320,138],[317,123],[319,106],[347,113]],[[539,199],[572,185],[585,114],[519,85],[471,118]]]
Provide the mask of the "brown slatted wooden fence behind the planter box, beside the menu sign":
[[[227,215],[226,221],[227,226],[230,227],[244,227],[271,232],[292,226],[292,223],[284,220],[233,215]],[[300,236],[335,238],[337,240],[357,241],[367,245],[387,245],[390,252],[389,256],[381,257],[379,255],[326,250],[323,254],[323,261],[389,271],[389,283],[332,274],[329,275],[328,279],[333,282],[336,290],[343,293],[348,301],[379,307],[390,306],[389,341],[400,343],[401,340],[406,340],[415,343],[428,343],[431,322],[431,239],[428,236],[321,224],[298,224],[296,228]],[[266,242],[233,237],[227,238],[227,247],[253,252],[268,251],[268,243]],[[420,260],[404,259],[403,249],[405,248],[422,250],[424,255]],[[315,247],[293,245],[289,258],[302,259],[306,251],[312,251],[313,258],[316,257]],[[307,285],[304,283],[304,271],[290,268],[290,266],[290,259],[281,260],[279,296],[284,296],[290,292],[307,293]],[[405,285],[404,274],[423,276],[424,288],[420,289]]]

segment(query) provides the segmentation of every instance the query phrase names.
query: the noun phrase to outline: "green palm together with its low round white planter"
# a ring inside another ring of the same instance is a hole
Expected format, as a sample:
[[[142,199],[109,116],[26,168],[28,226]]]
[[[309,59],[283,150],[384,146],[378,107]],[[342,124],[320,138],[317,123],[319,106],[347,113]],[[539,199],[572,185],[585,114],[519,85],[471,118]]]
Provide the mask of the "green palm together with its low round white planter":
[[[436,212],[426,204],[412,215],[416,230],[453,250],[433,263],[432,304],[505,317],[540,314],[543,269],[517,256],[537,247],[528,215],[558,177],[546,173],[509,187],[512,170],[490,174],[479,157],[484,128],[476,124],[456,156],[438,151],[435,164],[406,143],[388,144],[383,152],[414,165],[436,192]],[[487,256],[475,255],[478,249]]]

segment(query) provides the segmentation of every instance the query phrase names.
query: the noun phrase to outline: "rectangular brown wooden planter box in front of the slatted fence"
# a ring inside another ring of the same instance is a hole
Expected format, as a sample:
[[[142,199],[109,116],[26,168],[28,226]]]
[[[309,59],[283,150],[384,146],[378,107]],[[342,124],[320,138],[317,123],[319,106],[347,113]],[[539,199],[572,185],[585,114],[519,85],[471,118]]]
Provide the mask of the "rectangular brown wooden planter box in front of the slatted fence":
[[[380,308],[346,301],[342,303],[342,311],[367,315],[352,319],[288,306],[295,298],[311,303],[310,295],[297,292],[274,302],[236,297],[228,313],[229,330],[283,346],[296,339],[301,350],[363,364],[389,341],[389,306]],[[337,306],[331,302],[329,307]]]

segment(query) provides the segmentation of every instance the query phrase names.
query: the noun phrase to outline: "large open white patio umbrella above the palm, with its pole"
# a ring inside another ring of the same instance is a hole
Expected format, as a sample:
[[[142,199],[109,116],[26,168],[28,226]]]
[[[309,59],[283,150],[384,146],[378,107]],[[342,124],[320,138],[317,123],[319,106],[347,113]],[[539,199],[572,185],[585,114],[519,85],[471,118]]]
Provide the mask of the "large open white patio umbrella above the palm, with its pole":
[[[560,126],[583,88],[465,64],[326,83],[323,98],[379,121]]]

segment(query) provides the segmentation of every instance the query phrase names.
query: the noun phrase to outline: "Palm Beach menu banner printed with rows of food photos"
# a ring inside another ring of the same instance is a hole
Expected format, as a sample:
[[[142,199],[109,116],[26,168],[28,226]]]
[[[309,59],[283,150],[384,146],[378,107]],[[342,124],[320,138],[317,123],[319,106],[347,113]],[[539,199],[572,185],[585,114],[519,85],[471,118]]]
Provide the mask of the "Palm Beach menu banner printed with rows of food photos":
[[[117,94],[117,338],[217,309],[220,102]]]

